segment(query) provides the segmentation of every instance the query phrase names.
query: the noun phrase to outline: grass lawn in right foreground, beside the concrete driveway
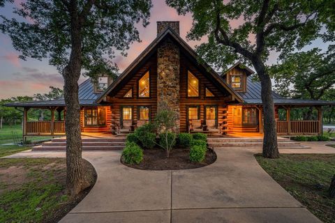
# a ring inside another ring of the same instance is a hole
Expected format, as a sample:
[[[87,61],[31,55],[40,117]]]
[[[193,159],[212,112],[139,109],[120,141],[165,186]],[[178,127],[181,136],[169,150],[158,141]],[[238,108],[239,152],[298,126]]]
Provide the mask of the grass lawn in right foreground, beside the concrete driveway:
[[[260,166],[323,222],[335,222],[335,199],[328,188],[335,174],[335,154],[281,154],[276,160],[255,155]]]

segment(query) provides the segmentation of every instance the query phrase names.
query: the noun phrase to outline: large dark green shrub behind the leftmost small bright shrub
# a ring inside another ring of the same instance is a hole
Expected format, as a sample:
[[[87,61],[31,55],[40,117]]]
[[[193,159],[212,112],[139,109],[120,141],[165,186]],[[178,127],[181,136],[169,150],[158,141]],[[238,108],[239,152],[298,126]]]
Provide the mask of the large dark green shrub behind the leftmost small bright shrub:
[[[144,148],[154,148],[156,142],[154,125],[151,123],[144,124],[137,128],[134,134]]]

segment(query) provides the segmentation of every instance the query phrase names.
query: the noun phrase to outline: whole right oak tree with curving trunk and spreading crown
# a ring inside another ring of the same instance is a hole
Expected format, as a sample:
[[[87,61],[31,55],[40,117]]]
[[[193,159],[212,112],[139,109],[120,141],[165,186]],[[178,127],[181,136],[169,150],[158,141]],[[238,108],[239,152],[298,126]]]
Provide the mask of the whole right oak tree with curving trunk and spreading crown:
[[[191,13],[193,16],[188,39],[200,40],[204,36],[207,37],[207,43],[197,47],[198,53],[205,61],[221,69],[236,60],[253,65],[262,86],[265,132],[262,154],[269,158],[278,157],[274,100],[271,94],[271,78],[266,66],[269,53],[277,51],[286,54],[318,38],[322,24],[329,22],[325,13],[328,12],[327,6],[330,6],[332,1],[166,2],[176,8],[179,14]]]

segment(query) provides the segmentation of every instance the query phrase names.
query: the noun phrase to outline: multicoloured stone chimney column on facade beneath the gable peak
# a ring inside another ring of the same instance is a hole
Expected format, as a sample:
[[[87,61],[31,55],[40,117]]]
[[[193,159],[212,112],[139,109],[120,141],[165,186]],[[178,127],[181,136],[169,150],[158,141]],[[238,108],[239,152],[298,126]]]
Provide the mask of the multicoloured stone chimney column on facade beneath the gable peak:
[[[165,101],[178,114],[178,130],[180,129],[179,75],[179,47],[167,39],[157,49],[157,111],[161,109],[160,102]]]

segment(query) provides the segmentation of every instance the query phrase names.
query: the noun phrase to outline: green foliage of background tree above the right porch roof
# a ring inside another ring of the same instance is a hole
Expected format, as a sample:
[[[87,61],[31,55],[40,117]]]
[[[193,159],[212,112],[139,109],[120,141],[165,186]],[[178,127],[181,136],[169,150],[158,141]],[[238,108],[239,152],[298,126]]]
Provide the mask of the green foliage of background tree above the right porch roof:
[[[276,91],[288,98],[332,100],[327,92],[335,89],[334,56],[333,47],[326,53],[314,48],[288,54],[281,64],[270,69]]]

